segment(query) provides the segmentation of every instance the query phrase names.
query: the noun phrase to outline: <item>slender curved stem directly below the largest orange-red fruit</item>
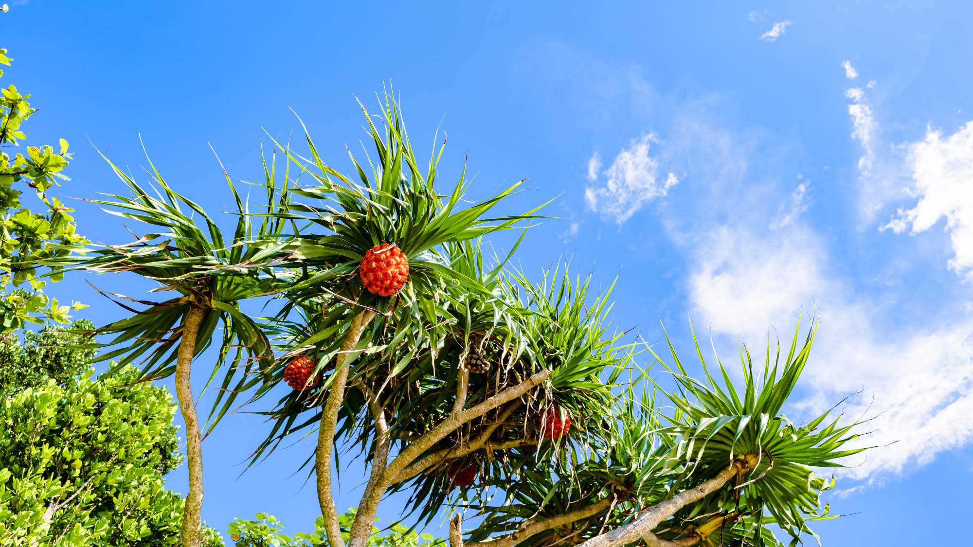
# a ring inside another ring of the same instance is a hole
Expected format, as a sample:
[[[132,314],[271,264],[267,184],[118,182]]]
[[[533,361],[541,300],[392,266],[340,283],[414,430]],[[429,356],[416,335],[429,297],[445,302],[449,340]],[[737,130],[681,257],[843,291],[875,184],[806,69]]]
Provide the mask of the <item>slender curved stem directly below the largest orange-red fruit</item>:
[[[328,535],[331,547],[344,547],[342,529],[338,524],[338,509],[331,492],[331,453],[335,447],[335,427],[338,425],[338,411],[344,400],[344,385],[348,380],[351,350],[358,346],[365,328],[375,318],[375,312],[364,310],[351,319],[351,326],[342,340],[341,357],[335,369],[335,378],[331,384],[331,392],[324,403],[321,413],[321,426],[317,431],[317,451],[314,454],[314,472],[317,477],[317,501],[324,516],[324,529]]]

